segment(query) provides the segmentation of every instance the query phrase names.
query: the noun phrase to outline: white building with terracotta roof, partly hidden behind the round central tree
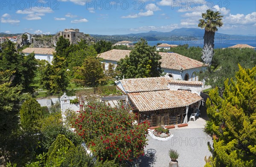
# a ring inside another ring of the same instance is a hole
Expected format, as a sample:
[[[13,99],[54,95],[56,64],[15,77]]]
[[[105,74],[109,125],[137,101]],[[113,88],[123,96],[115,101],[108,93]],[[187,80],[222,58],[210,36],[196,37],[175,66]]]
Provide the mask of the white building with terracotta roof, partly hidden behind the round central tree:
[[[117,65],[117,61],[125,58],[126,55],[129,56],[130,52],[130,50],[112,49],[99,54],[98,57],[103,58],[102,63],[105,63],[105,69],[108,69],[109,63]],[[163,72],[174,80],[198,81],[198,73],[207,68],[204,63],[177,53],[159,52],[159,54],[162,56],[160,61]]]

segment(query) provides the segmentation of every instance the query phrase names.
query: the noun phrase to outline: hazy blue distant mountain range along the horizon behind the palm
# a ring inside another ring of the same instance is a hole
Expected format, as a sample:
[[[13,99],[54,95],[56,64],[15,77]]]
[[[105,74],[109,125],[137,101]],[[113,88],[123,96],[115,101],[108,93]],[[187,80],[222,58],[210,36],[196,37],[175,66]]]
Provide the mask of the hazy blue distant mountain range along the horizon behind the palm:
[[[170,32],[158,32],[158,31],[149,31],[137,34],[127,34],[127,35],[91,35],[93,37],[102,37],[109,39],[119,38],[145,38],[146,40],[192,40],[193,38],[203,38],[204,29],[196,28],[180,28],[174,29]],[[216,32],[215,39],[224,39],[224,40],[256,40],[256,35],[227,35]],[[131,39],[132,40],[132,39]]]

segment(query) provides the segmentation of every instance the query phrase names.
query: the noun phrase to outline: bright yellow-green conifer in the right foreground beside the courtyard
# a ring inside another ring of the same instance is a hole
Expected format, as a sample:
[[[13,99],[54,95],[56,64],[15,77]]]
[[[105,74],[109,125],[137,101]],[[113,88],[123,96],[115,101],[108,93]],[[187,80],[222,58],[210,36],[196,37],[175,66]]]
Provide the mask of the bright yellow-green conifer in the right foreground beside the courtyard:
[[[211,166],[253,167],[256,164],[256,67],[239,65],[236,81],[227,79],[223,97],[209,92],[207,115],[213,141]]]

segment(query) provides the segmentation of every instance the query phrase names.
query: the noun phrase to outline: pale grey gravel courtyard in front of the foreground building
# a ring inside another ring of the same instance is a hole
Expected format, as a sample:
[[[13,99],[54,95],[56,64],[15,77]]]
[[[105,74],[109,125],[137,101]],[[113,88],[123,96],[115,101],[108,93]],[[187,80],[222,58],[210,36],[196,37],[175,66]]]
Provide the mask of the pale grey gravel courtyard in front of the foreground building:
[[[174,134],[169,141],[158,141],[148,136],[147,149],[155,149],[153,158],[145,155],[140,158],[140,167],[169,167],[169,150],[174,149],[180,154],[177,159],[179,167],[203,167],[204,157],[211,155],[207,141],[212,144],[212,138],[203,132],[202,128],[173,129]]]

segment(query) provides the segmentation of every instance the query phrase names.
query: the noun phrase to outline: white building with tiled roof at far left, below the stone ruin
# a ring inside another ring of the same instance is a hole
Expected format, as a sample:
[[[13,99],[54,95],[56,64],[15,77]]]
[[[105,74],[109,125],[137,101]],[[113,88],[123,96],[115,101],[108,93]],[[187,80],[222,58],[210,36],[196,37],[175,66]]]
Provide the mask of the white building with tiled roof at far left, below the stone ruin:
[[[26,48],[23,49],[22,52],[25,55],[29,55],[30,53],[35,53],[35,59],[38,60],[47,60],[49,63],[52,63],[53,53],[55,52],[52,48]]]

